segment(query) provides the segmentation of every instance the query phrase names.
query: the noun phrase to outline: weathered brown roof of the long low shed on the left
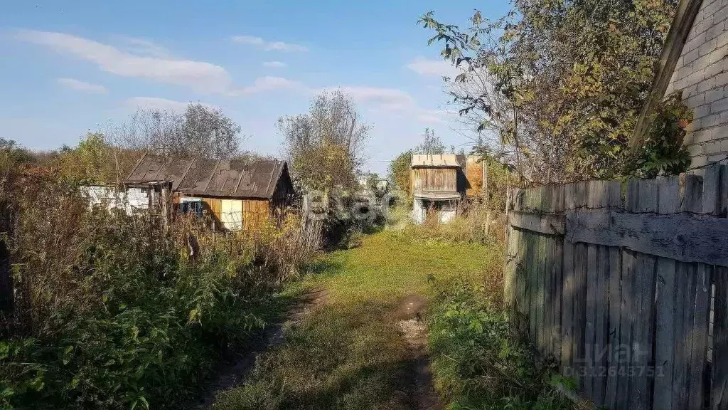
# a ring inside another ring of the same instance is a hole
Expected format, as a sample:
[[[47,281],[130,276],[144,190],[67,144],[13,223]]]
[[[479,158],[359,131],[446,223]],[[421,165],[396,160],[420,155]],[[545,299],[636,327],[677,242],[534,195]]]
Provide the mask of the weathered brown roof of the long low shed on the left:
[[[124,181],[172,181],[172,190],[201,196],[271,198],[288,165],[280,160],[212,160],[145,154]]]

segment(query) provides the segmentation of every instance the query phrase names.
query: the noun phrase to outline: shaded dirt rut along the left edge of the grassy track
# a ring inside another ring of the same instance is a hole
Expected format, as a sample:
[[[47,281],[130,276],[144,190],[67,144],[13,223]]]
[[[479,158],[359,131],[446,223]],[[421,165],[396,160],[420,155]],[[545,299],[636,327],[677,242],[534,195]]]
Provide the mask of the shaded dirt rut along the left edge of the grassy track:
[[[218,392],[240,386],[244,382],[245,376],[250,373],[253,365],[256,364],[258,355],[262,355],[268,349],[281,344],[283,342],[284,328],[301,321],[301,318],[307,312],[311,312],[316,306],[325,303],[327,295],[328,291],[325,289],[312,290],[302,295],[301,301],[296,303],[288,312],[286,320],[274,323],[266,328],[258,336],[258,339],[253,341],[253,344],[248,349],[245,349],[245,352],[240,352],[234,355],[232,360],[223,363],[216,372],[217,376],[209,382],[209,385],[205,388],[205,393],[201,395],[199,401],[191,403],[187,408],[209,409],[215,401],[215,395]]]

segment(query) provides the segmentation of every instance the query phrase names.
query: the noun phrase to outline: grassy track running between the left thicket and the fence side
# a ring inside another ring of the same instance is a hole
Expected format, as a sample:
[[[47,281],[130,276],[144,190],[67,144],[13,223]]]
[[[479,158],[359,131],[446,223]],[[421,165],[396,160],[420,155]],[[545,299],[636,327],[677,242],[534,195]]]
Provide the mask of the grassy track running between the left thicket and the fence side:
[[[422,243],[402,233],[366,236],[326,255],[290,292],[323,303],[284,328],[248,381],[218,395],[215,410],[441,409],[419,320],[432,281],[480,275],[496,260],[475,244]]]

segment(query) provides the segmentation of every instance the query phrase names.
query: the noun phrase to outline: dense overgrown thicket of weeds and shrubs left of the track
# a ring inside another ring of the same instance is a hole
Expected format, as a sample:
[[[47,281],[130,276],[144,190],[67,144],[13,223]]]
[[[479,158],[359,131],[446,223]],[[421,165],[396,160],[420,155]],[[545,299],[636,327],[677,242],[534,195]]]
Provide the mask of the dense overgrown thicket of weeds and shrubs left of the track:
[[[3,409],[178,408],[264,325],[260,306],[290,276],[280,270],[310,255],[275,251],[295,248],[290,220],[225,247],[197,232],[190,260],[185,232],[174,232],[182,226],[90,209],[73,187],[36,182],[17,193],[9,236],[16,298],[0,339]]]

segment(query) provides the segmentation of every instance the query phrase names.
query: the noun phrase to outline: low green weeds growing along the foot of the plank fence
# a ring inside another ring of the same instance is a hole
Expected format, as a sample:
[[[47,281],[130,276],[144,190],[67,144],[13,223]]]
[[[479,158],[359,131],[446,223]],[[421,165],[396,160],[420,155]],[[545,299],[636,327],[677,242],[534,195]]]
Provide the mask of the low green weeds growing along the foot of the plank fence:
[[[435,282],[430,348],[436,388],[451,409],[571,409],[550,386],[539,359],[499,303],[470,282]]]

